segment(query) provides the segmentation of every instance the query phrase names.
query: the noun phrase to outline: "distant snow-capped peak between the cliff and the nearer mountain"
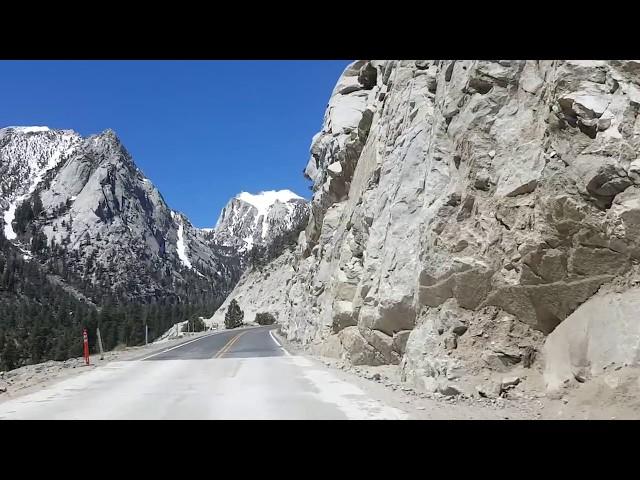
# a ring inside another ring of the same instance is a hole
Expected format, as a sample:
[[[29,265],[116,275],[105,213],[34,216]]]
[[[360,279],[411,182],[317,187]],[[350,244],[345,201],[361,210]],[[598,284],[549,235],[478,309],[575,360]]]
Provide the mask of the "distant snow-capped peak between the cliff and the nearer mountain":
[[[209,238],[247,254],[268,249],[283,236],[297,237],[308,218],[308,202],[290,190],[241,192],[224,207]]]

